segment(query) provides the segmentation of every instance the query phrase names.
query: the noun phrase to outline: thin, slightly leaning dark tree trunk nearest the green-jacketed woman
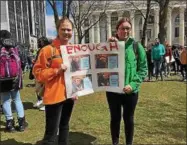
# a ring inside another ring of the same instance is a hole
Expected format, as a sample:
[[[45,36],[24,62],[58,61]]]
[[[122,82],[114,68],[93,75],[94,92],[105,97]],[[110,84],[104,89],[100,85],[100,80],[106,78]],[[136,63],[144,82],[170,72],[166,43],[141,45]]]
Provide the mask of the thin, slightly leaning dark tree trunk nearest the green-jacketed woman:
[[[146,11],[146,17],[143,25],[143,36],[141,43],[145,47],[145,39],[146,39],[146,33],[147,33],[147,22],[149,18],[149,13],[150,13],[150,6],[151,6],[151,0],[147,0],[147,11]]]

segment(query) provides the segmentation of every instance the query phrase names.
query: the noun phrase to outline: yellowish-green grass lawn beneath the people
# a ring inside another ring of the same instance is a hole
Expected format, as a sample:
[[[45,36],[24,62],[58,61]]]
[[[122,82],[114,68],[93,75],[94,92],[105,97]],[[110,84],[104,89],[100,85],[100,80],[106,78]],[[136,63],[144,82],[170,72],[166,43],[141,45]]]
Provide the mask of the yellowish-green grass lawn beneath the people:
[[[31,83],[25,76],[24,85]],[[24,87],[21,96],[29,123],[25,132],[4,132],[1,115],[1,145],[40,144],[44,112],[33,109],[34,88]],[[15,114],[14,114],[15,115]],[[123,121],[120,143],[123,143]],[[109,110],[104,92],[80,97],[70,122],[70,145],[111,144]],[[186,144],[186,83],[172,76],[168,81],[144,82],[135,112],[134,144]]]

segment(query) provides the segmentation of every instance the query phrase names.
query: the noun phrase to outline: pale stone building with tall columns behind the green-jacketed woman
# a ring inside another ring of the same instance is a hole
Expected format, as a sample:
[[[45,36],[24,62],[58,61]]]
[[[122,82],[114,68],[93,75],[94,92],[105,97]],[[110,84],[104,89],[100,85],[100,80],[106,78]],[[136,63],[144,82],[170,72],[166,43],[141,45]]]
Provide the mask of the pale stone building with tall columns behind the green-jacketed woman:
[[[141,40],[144,18],[146,14],[146,1],[134,1],[134,5],[124,1],[111,1],[105,12],[105,17],[89,30],[83,43],[105,42],[107,38],[115,35],[116,22],[123,16],[129,17],[132,22],[132,36]],[[140,12],[141,11],[141,12]],[[166,40],[170,44],[186,45],[187,37],[187,15],[186,3],[183,1],[172,1],[169,4]],[[100,12],[94,11],[89,17],[89,22],[97,19]],[[143,14],[143,15],[142,15]],[[151,13],[148,19],[146,42],[152,42],[159,33],[159,7],[157,3],[151,3]],[[75,33],[75,42],[77,41]]]

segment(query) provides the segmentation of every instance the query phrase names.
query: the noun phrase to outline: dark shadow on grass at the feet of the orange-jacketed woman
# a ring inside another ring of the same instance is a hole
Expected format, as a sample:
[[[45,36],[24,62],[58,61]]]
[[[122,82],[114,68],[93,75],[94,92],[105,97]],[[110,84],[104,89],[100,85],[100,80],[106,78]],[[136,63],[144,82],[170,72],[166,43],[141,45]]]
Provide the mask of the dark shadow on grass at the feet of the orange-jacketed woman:
[[[96,138],[82,132],[69,133],[69,145],[96,145]],[[35,145],[41,145],[42,141],[36,142]]]

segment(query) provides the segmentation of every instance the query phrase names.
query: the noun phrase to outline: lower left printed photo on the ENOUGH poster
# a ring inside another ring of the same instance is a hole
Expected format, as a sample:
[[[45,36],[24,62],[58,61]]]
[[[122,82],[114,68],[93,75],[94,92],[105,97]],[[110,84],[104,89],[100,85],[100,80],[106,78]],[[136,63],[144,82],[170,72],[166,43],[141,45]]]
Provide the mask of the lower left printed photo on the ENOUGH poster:
[[[92,75],[72,76],[72,94],[92,89]]]

